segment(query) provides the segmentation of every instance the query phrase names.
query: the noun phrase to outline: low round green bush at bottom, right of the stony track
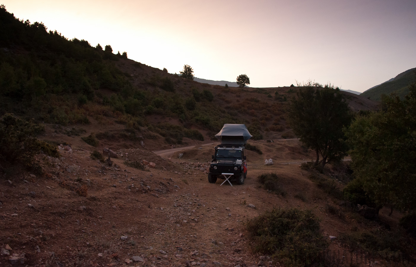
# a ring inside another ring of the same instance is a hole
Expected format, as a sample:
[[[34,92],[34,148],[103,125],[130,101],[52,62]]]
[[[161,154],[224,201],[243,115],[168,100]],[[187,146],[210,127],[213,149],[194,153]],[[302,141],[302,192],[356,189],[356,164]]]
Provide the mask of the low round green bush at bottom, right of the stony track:
[[[272,255],[285,266],[319,264],[328,247],[319,219],[310,210],[273,209],[245,223],[256,252]]]

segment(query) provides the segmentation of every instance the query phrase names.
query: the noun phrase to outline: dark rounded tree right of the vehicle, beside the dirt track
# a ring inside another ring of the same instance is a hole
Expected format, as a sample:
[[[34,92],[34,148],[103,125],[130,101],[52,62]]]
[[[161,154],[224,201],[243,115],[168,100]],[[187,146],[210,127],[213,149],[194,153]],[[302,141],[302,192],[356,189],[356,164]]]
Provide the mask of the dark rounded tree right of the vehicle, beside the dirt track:
[[[339,161],[347,155],[342,129],[352,118],[338,87],[300,88],[290,103],[288,115],[290,126],[300,141],[315,150],[315,167],[320,163],[323,170],[326,163]]]

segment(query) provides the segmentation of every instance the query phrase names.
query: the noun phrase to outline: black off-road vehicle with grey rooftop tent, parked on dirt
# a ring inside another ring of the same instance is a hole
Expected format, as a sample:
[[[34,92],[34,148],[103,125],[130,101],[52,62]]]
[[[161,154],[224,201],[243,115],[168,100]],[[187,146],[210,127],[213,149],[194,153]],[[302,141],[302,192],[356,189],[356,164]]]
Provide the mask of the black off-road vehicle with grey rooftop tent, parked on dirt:
[[[215,183],[217,178],[237,181],[239,185],[244,183],[247,176],[247,158],[245,144],[251,138],[244,124],[224,124],[223,129],[215,135],[220,139],[220,144],[215,146],[215,153],[208,173],[208,182]],[[227,174],[228,173],[228,174]]]

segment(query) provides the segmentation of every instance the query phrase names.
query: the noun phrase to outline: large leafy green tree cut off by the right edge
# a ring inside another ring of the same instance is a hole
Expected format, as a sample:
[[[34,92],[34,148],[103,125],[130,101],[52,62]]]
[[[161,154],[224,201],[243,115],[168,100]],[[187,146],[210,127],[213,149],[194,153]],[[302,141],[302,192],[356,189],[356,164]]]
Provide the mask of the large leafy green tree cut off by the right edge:
[[[346,132],[352,168],[364,190],[383,206],[416,210],[416,82],[401,100],[384,96],[382,110],[358,116]]]

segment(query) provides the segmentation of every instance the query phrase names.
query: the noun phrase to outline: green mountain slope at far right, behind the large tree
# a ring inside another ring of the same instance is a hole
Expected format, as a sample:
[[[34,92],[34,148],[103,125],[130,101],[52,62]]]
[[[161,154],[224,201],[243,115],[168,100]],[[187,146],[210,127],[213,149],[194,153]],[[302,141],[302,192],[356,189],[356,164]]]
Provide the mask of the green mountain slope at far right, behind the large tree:
[[[415,79],[416,68],[408,69],[393,79],[389,79],[387,82],[371,87],[360,95],[372,100],[380,101],[381,94],[389,95],[394,92],[403,99],[406,94],[409,94],[409,83],[413,82]]]

